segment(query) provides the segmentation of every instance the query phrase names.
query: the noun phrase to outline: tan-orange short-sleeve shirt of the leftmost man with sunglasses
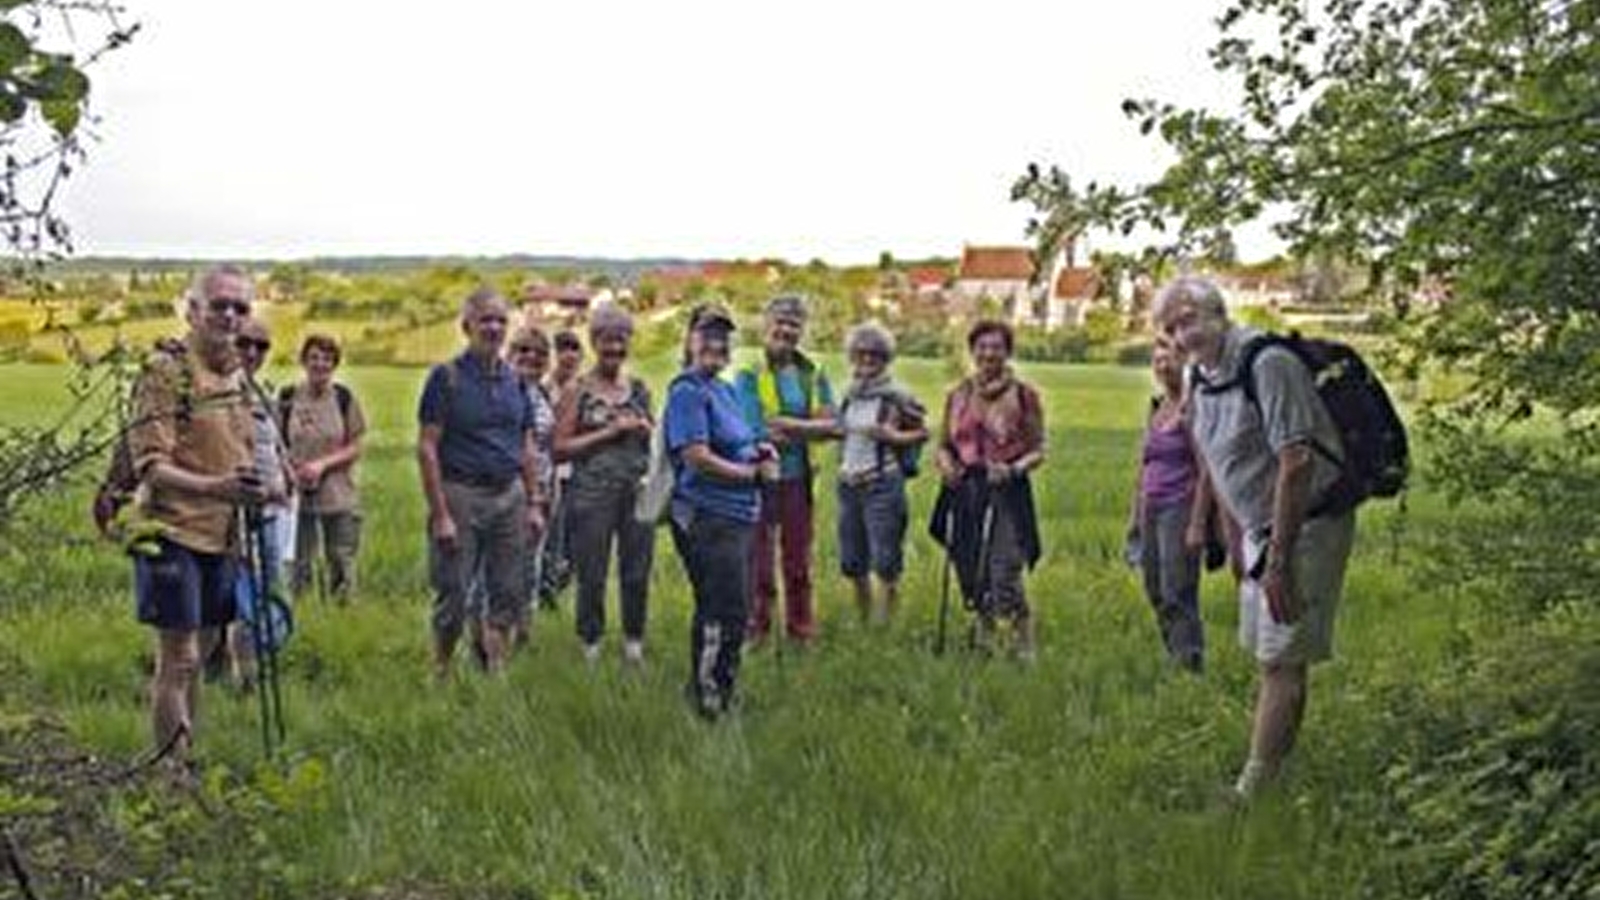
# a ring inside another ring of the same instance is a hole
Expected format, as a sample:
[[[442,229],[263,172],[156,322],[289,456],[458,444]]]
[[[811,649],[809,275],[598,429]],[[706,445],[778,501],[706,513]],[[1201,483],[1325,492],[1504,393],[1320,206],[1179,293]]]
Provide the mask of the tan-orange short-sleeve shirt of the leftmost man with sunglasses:
[[[168,463],[202,476],[226,476],[254,463],[256,426],[245,378],[213,372],[190,340],[181,356],[157,354],[134,386],[128,448],[144,485],[141,511],[163,535],[195,552],[229,549],[234,504],[229,500],[157,488],[144,477]]]

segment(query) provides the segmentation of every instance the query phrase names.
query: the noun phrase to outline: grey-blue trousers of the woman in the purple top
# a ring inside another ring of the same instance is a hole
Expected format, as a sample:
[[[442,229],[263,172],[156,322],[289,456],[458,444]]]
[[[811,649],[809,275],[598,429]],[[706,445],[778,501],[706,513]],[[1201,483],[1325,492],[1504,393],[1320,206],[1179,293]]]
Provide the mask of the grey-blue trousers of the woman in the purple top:
[[[1162,644],[1173,661],[1198,669],[1205,657],[1200,620],[1200,554],[1184,548],[1189,504],[1149,508],[1139,530],[1144,594],[1155,610]]]

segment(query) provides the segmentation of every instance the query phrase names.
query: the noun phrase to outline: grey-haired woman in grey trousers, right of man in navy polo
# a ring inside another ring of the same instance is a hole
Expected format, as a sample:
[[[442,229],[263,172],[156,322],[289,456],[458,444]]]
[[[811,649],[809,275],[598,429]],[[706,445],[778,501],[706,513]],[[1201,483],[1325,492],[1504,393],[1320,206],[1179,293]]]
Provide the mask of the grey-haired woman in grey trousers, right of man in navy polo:
[[[578,570],[578,637],[584,658],[600,658],[605,633],[605,580],[616,546],[622,601],[622,658],[645,658],[645,604],[654,530],[634,517],[640,482],[650,468],[650,388],[626,368],[634,319],[618,306],[589,317],[594,367],[555,413],[555,461],[571,461],[566,485],[573,565]]]

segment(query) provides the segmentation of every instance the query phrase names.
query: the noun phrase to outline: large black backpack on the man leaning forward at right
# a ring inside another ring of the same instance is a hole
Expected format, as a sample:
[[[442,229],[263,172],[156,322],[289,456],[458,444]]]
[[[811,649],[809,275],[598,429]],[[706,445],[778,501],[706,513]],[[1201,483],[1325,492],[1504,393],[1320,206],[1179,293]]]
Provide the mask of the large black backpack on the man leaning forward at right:
[[[1339,466],[1339,480],[1317,503],[1310,516],[1330,516],[1355,509],[1373,496],[1397,496],[1405,490],[1411,471],[1411,452],[1405,423],[1395,412],[1382,381],[1349,344],[1290,335],[1262,335],[1251,338],[1240,356],[1240,376],[1216,388],[1202,388],[1208,394],[1226,391],[1235,384],[1245,397],[1259,408],[1256,396],[1254,365],[1267,348],[1283,348],[1294,354],[1310,370],[1333,420],[1339,440],[1344,444],[1344,460],[1328,447],[1312,444],[1326,460]]]

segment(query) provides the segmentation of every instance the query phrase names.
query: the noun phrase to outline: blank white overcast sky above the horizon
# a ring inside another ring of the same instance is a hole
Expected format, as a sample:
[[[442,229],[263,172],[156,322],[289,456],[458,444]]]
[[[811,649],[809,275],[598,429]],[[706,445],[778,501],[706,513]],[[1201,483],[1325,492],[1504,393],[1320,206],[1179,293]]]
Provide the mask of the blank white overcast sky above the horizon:
[[[1125,96],[1224,96],[1206,0],[128,2],[80,255],[955,255],[1029,160],[1155,175]]]

